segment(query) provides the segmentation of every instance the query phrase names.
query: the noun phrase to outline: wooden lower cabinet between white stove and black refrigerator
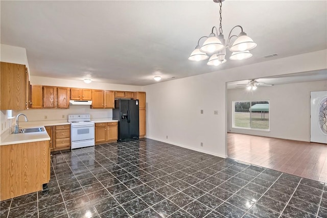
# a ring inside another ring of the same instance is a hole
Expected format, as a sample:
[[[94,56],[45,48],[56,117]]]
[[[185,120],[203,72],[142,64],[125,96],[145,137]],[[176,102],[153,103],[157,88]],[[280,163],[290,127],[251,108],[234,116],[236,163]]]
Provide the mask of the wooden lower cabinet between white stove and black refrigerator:
[[[96,144],[117,141],[118,139],[118,123],[96,123],[95,135]]]

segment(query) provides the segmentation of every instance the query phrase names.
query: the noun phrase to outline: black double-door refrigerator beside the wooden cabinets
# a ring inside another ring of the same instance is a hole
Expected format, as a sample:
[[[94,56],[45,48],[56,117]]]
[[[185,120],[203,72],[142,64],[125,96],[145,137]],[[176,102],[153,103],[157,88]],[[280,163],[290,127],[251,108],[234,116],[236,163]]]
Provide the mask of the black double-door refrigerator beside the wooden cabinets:
[[[138,139],[138,100],[115,100],[112,118],[118,120],[118,141]]]

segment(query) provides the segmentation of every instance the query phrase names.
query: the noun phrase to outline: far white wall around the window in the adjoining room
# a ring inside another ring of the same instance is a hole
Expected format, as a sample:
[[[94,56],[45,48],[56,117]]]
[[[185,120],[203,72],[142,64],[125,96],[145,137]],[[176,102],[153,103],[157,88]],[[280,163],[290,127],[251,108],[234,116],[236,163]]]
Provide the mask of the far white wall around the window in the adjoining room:
[[[227,131],[250,135],[310,141],[310,91],[327,90],[327,81],[259,86],[227,90]],[[270,131],[232,128],[233,101],[270,101]],[[283,125],[281,125],[283,124]]]

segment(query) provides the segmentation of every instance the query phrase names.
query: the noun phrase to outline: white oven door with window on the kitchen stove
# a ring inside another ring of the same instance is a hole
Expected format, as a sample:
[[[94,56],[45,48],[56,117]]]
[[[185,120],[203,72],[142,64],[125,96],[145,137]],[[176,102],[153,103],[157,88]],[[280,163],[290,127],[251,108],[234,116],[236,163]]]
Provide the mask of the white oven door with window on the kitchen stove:
[[[72,141],[94,139],[94,124],[71,126]]]

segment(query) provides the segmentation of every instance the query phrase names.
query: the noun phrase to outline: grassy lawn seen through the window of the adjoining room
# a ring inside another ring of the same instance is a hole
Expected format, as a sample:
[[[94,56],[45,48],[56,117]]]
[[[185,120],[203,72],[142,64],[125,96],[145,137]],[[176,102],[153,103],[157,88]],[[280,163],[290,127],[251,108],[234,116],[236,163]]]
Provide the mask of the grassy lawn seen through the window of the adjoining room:
[[[250,112],[234,113],[234,126],[250,128]],[[269,129],[269,113],[265,113],[265,118],[261,118],[261,113],[252,113],[251,115],[252,129]]]

